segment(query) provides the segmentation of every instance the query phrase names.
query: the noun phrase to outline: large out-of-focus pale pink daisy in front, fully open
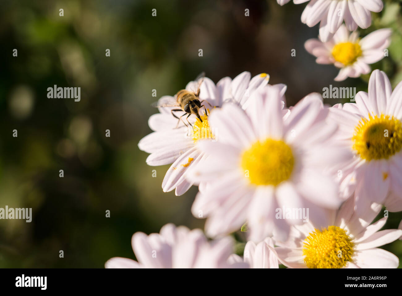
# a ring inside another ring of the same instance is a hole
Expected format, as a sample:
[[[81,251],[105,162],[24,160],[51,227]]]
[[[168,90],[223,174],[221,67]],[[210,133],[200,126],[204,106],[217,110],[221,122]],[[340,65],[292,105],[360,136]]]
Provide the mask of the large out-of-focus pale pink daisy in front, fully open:
[[[342,202],[333,178],[323,173],[344,159],[345,149],[326,145],[336,125],[324,123],[322,98],[306,97],[283,119],[280,97],[277,89],[265,89],[250,97],[246,112],[226,104],[211,114],[218,141],[197,143],[208,157],[188,172],[201,182],[191,211],[208,217],[208,236],[234,232],[247,221],[250,240],[285,237],[290,224],[303,219],[276,219],[276,209],[309,209],[310,219],[325,220],[322,207]]]

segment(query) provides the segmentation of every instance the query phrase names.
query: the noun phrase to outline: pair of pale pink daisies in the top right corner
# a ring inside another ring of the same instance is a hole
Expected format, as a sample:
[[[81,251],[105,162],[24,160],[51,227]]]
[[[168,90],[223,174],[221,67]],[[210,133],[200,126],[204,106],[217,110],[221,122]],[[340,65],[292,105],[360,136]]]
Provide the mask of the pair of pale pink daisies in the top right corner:
[[[290,0],[277,0],[284,5]],[[334,64],[340,69],[335,81],[368,74],[373,64],[388,56],[392,30],[383,28],[360,38],[357,29],[371,25],[371,12],[380,12],[382,0],[293,0],[308,2],[301,22],[309,27],[320,23],[318,39],[309,39],[306,50],[316,56],[318,64]]]

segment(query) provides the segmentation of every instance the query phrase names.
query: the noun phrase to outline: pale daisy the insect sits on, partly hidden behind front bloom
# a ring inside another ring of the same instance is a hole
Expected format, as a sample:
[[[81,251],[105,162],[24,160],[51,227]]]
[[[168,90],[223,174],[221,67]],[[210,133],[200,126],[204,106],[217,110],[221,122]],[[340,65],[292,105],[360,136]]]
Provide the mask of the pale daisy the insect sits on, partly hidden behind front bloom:
[[[244,105],[257,89],[267,86],[269,75],[262,73],[251,79],[249,72],[243,72],[233,80],[229,77],[221,79],[216,85],[211,79],[205,77],[201,84],[199,99],[205,100],[203,103],[207,108],[221,107],[224,102],[235,101],[240,105]],[[190,82],[186,89],[192,90],[195,82]],[[284,95],[286,85],[273,85],[280,89]],[[172,96],[163,96],[160,101],[171,101]],[[210,105],[210,106],[209,106]],[[177,118],[171,114],[174,108],[159,108],[158,114],[150,117],[148,124],[154,132],[139,141],[139,149],[150,153],[146,162],[150,166],[162,166],[172,164],[162,182],[164,192],[175,189],[176,195],[182,195],[192,186],[193,182],[185,179],[184,173],[188,168],[197,164],[203,158],[203,153],[196,147],[199,139],[214,140],[213,129],[209,126],[209,120],[203,108],[200,109],[200,120],[195,120],[195,116],[190,116],[189,120],[194,126],[187,128],[183,122],[179,122],[177,126]],[[214,112],[215,108],[210,109]]]

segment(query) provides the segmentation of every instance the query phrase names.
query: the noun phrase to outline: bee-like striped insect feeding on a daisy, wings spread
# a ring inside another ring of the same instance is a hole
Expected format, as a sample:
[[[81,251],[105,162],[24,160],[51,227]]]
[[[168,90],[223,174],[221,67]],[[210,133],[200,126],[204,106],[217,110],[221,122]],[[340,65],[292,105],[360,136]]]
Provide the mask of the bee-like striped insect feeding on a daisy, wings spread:
[[[193,125],[189,122],[189,116],[194,114],[197,118],[202,122],[201,116],[199,115],[199,110],[201,108],[205,109],[205,115],[207,114],[207,108],[205,105],[201,105],[204,101],[200,101],[199,94],[200,94],[200,87],[204,81],[205,73],[202,72],[198,77],[195,79],[193,83],[193,90],[182,89],[174,95],[174,97],[169,97],[168,99],[160,99],[159,101],[153,103],[152,107],[180,107],[180,109],[172,109],[170,112],[172,115],[178,119],[176,124],[176,128],[180,123],[180,120],[187,126],[187,124],[183,120],[183,116],[187,115],[187,122],[190,124],[191,127]],[[185,112],[182,116],[177,117],[176,114],[173,112],[182,111]]]

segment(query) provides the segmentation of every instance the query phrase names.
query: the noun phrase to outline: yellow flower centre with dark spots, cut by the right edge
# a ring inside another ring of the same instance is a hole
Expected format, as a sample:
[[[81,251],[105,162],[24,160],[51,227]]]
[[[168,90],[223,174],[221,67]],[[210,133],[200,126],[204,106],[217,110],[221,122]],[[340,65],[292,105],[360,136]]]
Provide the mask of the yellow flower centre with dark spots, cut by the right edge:
[[[402,148],[402,123],[381,114],[362,118],[352,137],[353,149],[361,158],[388,159]]]

